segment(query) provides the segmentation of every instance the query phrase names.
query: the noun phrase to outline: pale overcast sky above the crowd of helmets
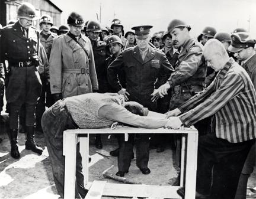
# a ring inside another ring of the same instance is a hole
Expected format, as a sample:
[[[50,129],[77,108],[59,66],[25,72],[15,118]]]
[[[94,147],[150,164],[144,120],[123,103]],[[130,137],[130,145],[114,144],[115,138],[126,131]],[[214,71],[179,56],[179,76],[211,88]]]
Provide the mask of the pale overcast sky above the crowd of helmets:
[[[182,19],[189,24],[191,35],[199,35],[206,26],[217,31],[231,32],[236,27],[250,29],[256,37],[256,1],[255,0],[51,0],[62,9],[62,22],[76,11],[88,19],[100,20],[110,26],[113,18],[124,25],[124,31],[136,25],[152,25],[152,33],[167,30],[168,23]],[[64,3],[65,2],[65,3]],[[250,18],[250,26],[249,20]]]

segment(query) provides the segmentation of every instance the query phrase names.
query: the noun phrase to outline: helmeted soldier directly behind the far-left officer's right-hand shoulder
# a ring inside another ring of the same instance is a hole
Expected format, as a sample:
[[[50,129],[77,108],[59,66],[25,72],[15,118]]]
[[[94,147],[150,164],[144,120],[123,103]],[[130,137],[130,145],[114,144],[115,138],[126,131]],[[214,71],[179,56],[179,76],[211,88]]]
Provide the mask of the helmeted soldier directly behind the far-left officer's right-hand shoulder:
[[[44,50],[46,51],[46,55],[48,60],[50,60],[50,52],[52,50],[53,40],[57,37],[56,34],[50,31],[50,28],[53,26],[53,20],[50,15],[42,15],[39,20],[39,25],[41,28],[41,32],[39,35],[40,43],[43,45]],[[45,73],[40,74],[40,79],[42,83],[42,89],[40,98],[37,102],[36,106],[36,129],[39,132],[42,132],[41,129],[41,116],[45,111],[45,107],[50,107],[53,105],[54,100],[52,94],[50,93],[50,85],[48,83],[49,77]]]

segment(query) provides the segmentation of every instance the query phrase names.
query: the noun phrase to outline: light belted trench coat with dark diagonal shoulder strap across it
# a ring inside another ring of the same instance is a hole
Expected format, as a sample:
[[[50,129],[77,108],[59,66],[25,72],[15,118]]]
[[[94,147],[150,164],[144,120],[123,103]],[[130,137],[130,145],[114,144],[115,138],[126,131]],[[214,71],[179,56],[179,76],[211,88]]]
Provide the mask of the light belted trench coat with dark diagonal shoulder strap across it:
[[[82,35],[79,43],[87,50],[89,57],[68,34],[60,35],[53,41],[50,54],[52,94],[62,93],[63,97],[69,97],[98,90],[91,41]]]

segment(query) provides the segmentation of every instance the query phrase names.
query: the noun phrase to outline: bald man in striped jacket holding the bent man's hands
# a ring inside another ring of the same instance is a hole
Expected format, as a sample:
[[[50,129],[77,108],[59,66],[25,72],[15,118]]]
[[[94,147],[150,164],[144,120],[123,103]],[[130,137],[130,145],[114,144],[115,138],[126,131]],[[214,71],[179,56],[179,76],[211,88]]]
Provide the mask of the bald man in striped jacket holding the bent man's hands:
[[[215,80],[202,93],[168,112],[167,118],[172,128],[179,128],[214,116],[212,131],[199,137],[197,197],[234,198],[239,175],[256,138],[255,90],[248,73],[229,58],[219,41],[208,41],[203,55],[218,72]],[[178,193],[183,194],[183,190]]]

